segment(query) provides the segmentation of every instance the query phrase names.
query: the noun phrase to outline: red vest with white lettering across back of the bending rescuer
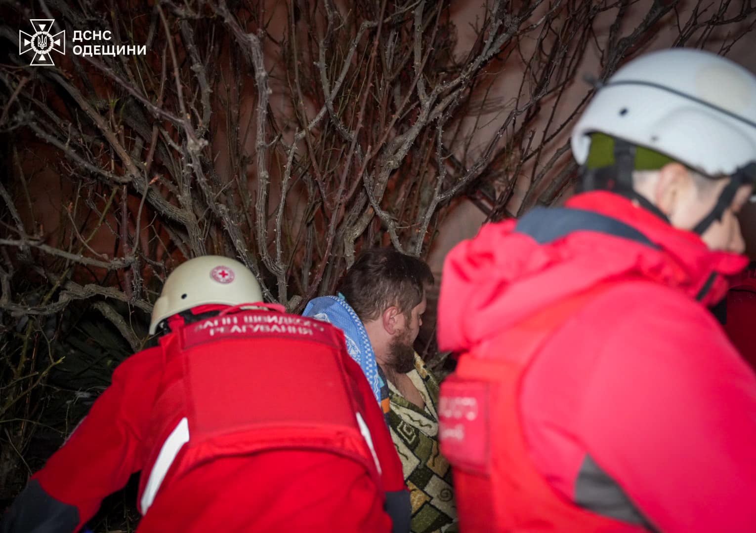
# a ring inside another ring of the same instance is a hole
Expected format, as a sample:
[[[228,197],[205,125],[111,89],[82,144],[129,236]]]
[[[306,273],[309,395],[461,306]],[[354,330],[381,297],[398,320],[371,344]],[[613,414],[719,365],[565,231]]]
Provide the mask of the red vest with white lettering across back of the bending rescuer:
[[[160,346],[165,371],[145,443],[141,513],[170,479],[215,458],[257,451],[340,454],[364,464],[380,486],[380,463],[355,392],[355,380],[364,377],[345,365],[349,355],[336,328],[245,310],[175,328]]]

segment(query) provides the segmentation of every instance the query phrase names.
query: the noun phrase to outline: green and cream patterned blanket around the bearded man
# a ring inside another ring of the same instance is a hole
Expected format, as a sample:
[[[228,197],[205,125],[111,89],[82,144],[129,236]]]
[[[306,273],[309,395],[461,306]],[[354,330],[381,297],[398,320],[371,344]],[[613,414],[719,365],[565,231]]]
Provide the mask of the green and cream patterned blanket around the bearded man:
[[[404,481],[411,491],[411,531],[451,533],[457,531],[457,509],[451,467],[438,451],[438,383],[417,354],[415,369],[407,375],[423,396],[426,407],[421,409],[404,399],[389,383],[390,410],[386,420],[401,457]],[[385,376],[381,377],[384,383],[388,382]]]

